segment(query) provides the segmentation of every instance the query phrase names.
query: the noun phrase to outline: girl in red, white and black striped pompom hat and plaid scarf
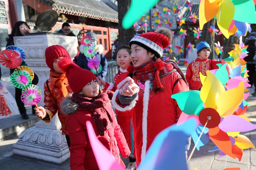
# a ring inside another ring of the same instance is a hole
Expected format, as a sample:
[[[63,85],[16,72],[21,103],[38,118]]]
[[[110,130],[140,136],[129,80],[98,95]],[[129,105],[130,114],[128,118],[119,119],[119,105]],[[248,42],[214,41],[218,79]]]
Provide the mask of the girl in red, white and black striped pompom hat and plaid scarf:
[[[167,28],[133,37],[129,45],[134,67],[127,69],[132,78],[128,77],[117,85],[118,90],[112,99],[120,111],[134,107],[132,125],[137,166],[156,135],[180,117],[181,110],[171,98],[172,94],[189,90],[178,65],[159,59],[170,41],[172,32]]]

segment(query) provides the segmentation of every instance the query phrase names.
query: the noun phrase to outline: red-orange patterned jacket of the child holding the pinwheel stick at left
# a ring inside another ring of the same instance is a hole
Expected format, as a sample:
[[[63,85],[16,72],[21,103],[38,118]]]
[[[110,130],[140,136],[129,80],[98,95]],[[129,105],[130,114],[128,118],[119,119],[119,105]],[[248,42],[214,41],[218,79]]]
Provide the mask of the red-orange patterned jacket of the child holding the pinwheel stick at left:
[[[52,117],[58,112],[58,117],[61,123],[60,130],[62,130],[62,135],[68,135],[66,125],[65,125],[66,115],[60,110],[60,103],[64,98],[60,97],[59,91],[57,88],[53,88],[53,89],[51,88],[51,78],[49,78],[47,82],[48,82],[48,87],[46,82],[44,82],[44,103],[45,103],[44,108],[48,113],[50,119],[43,119],[43,121],[46,123],[50,123]],[[72,93],[72,90],[68,85],[68,81],[65,83],[65,85],[68,90],[68,93]]]

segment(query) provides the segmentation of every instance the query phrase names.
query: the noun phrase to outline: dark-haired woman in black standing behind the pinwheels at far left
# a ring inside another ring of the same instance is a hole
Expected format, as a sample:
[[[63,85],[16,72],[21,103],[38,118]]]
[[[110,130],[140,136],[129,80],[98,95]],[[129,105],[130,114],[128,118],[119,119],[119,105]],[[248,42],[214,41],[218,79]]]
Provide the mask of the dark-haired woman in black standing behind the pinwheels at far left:
[[[12,33],[9,35],[9,39],[7,41],[6,47],[10,46],[10,45],[14,45],[13,37],[24,36],[27,33],[32,33],[32,30],[30,29],[28,24],[24,21],[16,22],[12,28]],[[23,61],[20,65],[28,66],[25,63],[25,61]],[[10,69],[10,73],[12,74],[14,70],[15,69]],[[36,85],[37,83],[38,83],[38,77],[35,73],[34,79],[32,80],[32,84]],[[15,88],[15,100],[16,100],[17,106],[19,108],[20,115],[21,115],[22,119],[29,119],[25,105],[20,99],[21,91],[22,91],[22,89]],[[34,108],[35,108],[35,106],[32,106],[32,114],[36,114]]]

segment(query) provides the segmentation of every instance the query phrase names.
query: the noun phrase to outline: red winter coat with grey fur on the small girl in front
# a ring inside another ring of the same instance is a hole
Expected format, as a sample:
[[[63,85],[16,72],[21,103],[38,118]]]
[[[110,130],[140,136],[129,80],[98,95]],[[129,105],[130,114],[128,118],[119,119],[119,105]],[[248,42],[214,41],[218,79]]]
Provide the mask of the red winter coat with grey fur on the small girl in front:
[[[70,138],[69,151],[71,170],[99,169],[87,134],[86,121],[90,121],[92,123],[92,127],[97,138],[112,153],[116,161],[124,165],[120,158],[120,152],[124,158],[128,157],[131,152],[126,144],[124,134],[120,129],[120,126],[117,124],[110,102],[104,108],[111,115],[113,128],[109,128],[104,131],[104,136],[100,136],[97,125],[92,117],[92,112],[83,107],[76,110],[77,107],[78,104],[74,103],[69,97],[62,103],[63,111],[68,113],[65,123],[68,130],[68,136]]]

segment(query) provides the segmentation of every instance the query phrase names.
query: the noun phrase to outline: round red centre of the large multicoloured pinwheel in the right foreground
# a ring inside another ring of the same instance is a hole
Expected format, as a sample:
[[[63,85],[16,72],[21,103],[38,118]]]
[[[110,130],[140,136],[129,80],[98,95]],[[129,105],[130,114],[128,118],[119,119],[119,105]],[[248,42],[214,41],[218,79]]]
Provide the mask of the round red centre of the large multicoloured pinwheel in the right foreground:
[[[202,125],[207,122],[207,128],[215,128],[220,124],[220,114],[213,108],[204,108],[199,113],[199,121]]]

